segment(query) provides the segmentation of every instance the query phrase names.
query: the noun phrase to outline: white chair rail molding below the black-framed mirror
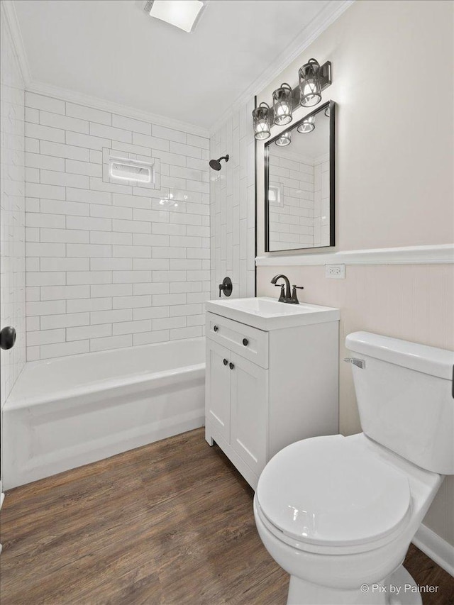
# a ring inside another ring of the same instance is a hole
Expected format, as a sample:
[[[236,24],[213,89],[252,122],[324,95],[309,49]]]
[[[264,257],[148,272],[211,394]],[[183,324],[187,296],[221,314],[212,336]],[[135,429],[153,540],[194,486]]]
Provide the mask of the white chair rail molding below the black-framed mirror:
[[[258,256],[258,267],[295,265],[452,265],[454,244],[345,250],[282,256]]]

